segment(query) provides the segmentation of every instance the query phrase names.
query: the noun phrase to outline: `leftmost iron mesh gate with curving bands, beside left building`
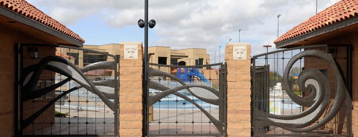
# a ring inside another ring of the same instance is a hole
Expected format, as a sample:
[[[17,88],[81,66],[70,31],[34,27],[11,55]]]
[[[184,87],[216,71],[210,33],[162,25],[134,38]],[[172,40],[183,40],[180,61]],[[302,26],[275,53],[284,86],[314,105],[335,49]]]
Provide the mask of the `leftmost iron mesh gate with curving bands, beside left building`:
[[[117,136],[118,56],[20,44],[18,135]]]

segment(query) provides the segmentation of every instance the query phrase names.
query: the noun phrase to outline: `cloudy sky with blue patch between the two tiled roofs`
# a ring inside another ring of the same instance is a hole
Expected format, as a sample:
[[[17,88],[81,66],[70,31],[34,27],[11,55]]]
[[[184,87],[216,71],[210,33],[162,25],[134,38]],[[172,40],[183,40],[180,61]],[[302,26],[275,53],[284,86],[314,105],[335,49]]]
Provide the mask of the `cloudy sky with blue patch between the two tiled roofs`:
[[[339,0],[317,0],[318,12]],[[118,0],[28,0],[86,40],[85,44],[101,45],[120,41],[142,41],[144,29],[137,25],[144,19],[144,1]],[[276,50],[278,14],[279,35],[313,16],[314,0],[150,0],[149,46],[172,49],[204,48],[218,62],[223,61],[224,47],[229,42],[251,43],[251,55],[265,53],[262,45]],[[219,49],[219,46],[222,47]]]

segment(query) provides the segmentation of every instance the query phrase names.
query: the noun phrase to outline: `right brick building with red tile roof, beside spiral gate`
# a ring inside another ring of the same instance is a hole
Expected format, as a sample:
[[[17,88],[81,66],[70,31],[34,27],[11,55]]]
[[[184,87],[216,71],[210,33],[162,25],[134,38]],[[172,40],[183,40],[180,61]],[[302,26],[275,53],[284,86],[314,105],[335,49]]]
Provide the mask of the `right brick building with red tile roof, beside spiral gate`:
[[[306,45],[327,45],[327,53],[345,55],[349,61],[342,68],[345,84],[352,100],[352,134],[358,134],[358,4],[356,1],[341,0],[320,13],[310,17],[274,41],[276,48],[302,47]],[[343,49],[343,50],[342,50]],[[339,61],[336,62],[341,64]],[[312,65],[305,62],[306,65]],[[325,68],[321,68],[326,70]],[[324,72],[323,72],[324,73]],[[331,74],[328,70],[324,74]],[[345,114],[343,114],[345,115]]]

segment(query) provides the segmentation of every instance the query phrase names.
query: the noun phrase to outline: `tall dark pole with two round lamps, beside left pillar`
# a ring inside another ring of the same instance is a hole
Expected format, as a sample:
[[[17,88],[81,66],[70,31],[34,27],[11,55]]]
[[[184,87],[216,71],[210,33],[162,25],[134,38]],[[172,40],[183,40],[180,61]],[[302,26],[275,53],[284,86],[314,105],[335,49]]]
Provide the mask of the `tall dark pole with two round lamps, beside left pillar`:
[[[148,102],[148,96],[149,96],[149,88],[148,88],[148,27],[154,28],[155,26],[155,20],[152,19],[148,22],[148,0],[144,1],[144,20],[139,19],[138,20],[138,26],[140,28],[144,28],[144,69],[143,69],[143,109],[145,113],[145,117],[143,117],[143,129],[142,134],[148,135],[148,129],[149,129],[149,119],[148,114],[149,113],[149,106],[147,106]]]

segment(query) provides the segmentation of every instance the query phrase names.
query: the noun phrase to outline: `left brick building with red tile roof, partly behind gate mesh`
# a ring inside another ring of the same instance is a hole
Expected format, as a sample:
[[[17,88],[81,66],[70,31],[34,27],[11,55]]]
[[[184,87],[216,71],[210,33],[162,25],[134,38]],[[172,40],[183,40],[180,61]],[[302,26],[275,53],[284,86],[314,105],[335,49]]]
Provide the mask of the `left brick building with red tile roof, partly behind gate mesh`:
[[[36,9],[26,1],[0,1],[0,133],[2,136],[16,136],[19,127],[19,66],[26,67],[49,55],[55,55],[54,48],[41,46],[35,48],[30,45],[70,45],[82,47],[85,40],[72,32],[66,26]],[[14,50],[15,49],[15,50]],[[19,63],[19,57],[23,64]],[[54,83],[54,75],[47,72],[39,77],[35,88],[44,88],[48,83]],[[15,85],[15,86],[14,86]],[[26,96],[26,95],[23,95]],[[39,102],[51,100],[54,94],[41,95],[34,99]],[[23,113],[38,109],[37,106],[27,107],[32,101],[24,101]],[[52,117],[40,116],[37,120],[51,121],[54,119],[54,108],[50,107],[44,112]],[[26,119],[28,115],[24,115]],[[37,121],[35,121],[37,122]],[[33,126],[33,129],[44,128]],[[23,131],[26,132],[27,129]]]

